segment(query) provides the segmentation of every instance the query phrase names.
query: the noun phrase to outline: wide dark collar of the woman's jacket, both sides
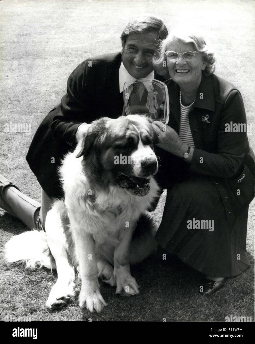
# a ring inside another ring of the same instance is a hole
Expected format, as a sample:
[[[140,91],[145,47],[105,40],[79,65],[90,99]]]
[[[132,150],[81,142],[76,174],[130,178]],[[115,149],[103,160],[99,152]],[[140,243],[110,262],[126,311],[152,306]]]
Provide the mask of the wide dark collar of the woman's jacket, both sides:
[[[169,103],[175,103],[177,100],[179,101],[179,86],[173,82],[172,79],[169,81],[166,80],[165,83],[167,84],[168,91],[169,91]],[[200,85],[198,87],[198,93],[196,94],[196,100],[194,103],[194,108],[201,108],[206,109],[209,111],[215,111],[215,99],[213,93],[213,84],[212,78],[210,76],[205,76],[202,73],[202,78]]]

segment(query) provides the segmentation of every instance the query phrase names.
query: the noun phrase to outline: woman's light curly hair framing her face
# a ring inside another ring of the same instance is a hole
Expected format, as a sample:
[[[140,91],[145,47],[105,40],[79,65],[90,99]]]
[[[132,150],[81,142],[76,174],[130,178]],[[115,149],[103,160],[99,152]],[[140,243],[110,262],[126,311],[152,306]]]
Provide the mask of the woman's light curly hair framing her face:
[[[153,57],[153,65],[159,75],[163,75],[166,79],[170,78],[167,60],[164,52],[167,49],[167,46],[173,42],[180,43],[193,43],[195,51],[200,51],[202,53],[203,61],[206,63],[206,67],[203,73],[206,76],[211,75],[215,71],[216,59],[214,53],[209,50],[209,47],[206,45],[205,40],[202,36],[197,34],[185,34],[182,32],[172,32],[166,39],[162,40],[159,45],[159,49]]]

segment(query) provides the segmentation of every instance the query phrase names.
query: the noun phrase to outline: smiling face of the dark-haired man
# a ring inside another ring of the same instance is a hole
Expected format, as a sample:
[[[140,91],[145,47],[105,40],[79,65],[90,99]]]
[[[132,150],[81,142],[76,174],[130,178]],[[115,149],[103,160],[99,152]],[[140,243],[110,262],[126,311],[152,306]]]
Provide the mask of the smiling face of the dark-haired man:
[[[144,32],[128,36],[123,47],[122,62],[132,77],[145,78],[153,71],[151,60],[158,47],[157,37],[157,32]]]

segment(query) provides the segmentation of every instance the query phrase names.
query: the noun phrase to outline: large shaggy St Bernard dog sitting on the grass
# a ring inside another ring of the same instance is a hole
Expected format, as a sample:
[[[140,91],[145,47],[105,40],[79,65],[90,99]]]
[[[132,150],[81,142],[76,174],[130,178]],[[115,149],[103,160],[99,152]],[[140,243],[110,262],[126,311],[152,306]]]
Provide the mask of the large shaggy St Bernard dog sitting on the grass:
[[[155,249],[152,220],[145,211],[158,196],[156,132],[146,117],[131,115],[92,122],[60,168],[64,200],[48,212],[45,232],[30,231],[6,245],[8,261],[57,269],[46,306],[59,309],[74,295],[75,268],[82,279],[79,306],[100,312],[106,305],[98,277],[116,294],[136,295],[130,263]],[[53,258],[54,257],[54,258]]]

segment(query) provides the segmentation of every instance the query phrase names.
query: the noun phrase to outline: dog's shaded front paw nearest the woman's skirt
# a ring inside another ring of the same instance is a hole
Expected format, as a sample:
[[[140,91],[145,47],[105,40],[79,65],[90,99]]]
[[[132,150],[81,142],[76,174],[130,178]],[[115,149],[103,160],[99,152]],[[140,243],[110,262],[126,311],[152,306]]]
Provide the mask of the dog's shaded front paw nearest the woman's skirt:
[[[114,269],[114,278],[116,280],[116,294],[137,295],[139,294],[139,286],[134,277],[125,269]]]

